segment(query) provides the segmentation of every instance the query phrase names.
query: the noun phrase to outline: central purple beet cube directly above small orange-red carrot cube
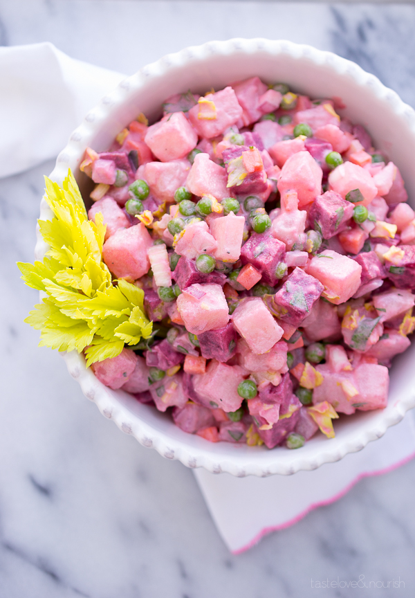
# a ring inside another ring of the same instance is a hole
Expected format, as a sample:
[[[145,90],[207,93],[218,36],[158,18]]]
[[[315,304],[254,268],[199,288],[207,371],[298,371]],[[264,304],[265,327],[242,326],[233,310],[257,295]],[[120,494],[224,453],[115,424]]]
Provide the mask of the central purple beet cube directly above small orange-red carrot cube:
[[[264,233],[252,233],[241,248],[241,262],[252,264],[266,284],[274,285],[277,282],[275,270],[279,262],[284,261],[285,253],[285,243],[279,239]]]

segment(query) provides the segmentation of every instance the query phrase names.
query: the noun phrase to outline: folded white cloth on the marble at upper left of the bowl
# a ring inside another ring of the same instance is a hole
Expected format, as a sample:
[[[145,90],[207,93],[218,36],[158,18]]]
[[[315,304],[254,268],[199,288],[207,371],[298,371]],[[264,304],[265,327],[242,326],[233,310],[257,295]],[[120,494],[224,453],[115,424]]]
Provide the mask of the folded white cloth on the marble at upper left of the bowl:
[[[1,46],[0,177],[57,156],[124,76],[74,60],[48,42]]]

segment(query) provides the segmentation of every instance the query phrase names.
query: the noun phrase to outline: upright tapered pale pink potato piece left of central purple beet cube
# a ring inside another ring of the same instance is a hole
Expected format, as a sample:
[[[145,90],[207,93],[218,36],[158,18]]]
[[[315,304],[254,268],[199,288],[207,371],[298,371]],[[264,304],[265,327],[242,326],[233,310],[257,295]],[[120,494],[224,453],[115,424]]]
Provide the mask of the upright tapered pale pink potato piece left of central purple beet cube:
[[[210,232],[217,242],[217,248],[214,252],[216,260],[222,260],[223,262],[237,262],[239,260],[244,226],[245,218],[235,216],[233,212],[229,212],[228,216],[215,218],[210,222]]]

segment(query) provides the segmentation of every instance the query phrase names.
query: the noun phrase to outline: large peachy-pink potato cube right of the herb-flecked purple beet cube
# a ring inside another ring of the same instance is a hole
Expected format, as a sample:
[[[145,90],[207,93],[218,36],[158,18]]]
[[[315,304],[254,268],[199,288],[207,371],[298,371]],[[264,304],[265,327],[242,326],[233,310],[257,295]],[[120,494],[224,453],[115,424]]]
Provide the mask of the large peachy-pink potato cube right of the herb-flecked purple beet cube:
[[[323,296],[339,305],[350,299],[360,287],[362,266],[346,255],[325,249],[313,257],[307,273],[324,284],[326,290]]]

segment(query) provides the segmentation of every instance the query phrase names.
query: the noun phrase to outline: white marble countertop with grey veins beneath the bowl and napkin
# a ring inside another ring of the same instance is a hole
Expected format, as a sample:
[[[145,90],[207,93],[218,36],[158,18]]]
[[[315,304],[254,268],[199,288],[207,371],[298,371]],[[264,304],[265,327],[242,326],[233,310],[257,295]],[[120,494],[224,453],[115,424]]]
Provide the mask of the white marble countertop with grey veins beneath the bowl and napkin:
[[[149,28],[150,22],[157,26]],[[50,41],[133,73],[184,46],[286,38],[335,51],[415,107],[415,6],[216,1],[0,0],[0,44]],[[192,471],[123,435],[23,320],[48,162],[0,180],[1,598],[414,595],[415,462],[232,556]],[[398,580],[399,590],[318,589]],[[405,593],[406,592],[406,593]]]

